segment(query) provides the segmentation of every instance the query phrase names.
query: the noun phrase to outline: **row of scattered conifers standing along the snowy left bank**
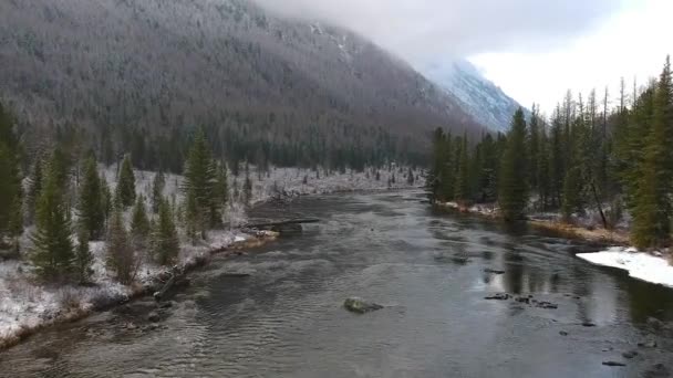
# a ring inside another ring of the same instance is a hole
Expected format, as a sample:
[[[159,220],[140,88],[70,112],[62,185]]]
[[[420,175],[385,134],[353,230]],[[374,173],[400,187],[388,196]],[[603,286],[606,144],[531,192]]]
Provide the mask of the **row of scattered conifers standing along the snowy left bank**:
[[[118,167],[114,188],[93,150],[79,159],[56,143],[38,155],[27,175],[23,155],[13,116],[0,105],[0,252],[28,259],[45,281],[90,281],[90,242],[102,241],[107,269],[130,284],[143,262],[169,266],[177,262],[180,239],[196,243],[208,230],[222,227],[229,201],[227,170],[213,157],[203,130],[190,141],[179,203],[175,195],[165,195],[162,171],[154,177],[149,198],[138,192],[130,154]],[[248,176],[244,190],[249,200],[251,192],[245,188],[251,190]],[[28,243],[21,245],[25,230]]]

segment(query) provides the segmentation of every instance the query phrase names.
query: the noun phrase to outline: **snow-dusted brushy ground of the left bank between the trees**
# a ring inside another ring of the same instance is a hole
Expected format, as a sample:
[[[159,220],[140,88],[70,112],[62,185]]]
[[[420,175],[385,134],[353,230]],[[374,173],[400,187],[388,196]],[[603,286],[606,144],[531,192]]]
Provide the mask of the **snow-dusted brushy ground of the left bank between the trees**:
[[[117,167],[101,167],[103,177],[108,182],[111,190],[116,186]],[[325,175],[323,169],[319,172],[299,168],[271,168],[265,172],[250,170],[252,181],[252,203],[270,199],[275,193],[284,191],[293,195],[330,193],[350,190],[373,190],[387,188],[407,187],[408,168],[380,169],[379,180],[376,170],[367,168],[363,172],[348,170],[344,174],[330,172]],[[152,182],[155,172],[135,171],[136,191],[145,198],[151,198]],[[395,176],[395,182],[392,177]],[[423,185],[423,175],[414,172],[415,185]],[[166,175],[164,196],[176,203],[183,200],[179,190],[182,177]],[[235,178],[229,174],[229,189],[231,195],[230,206],[225,213],[225,224],[230,225],[227,230],[211,231],[208,241],[199,245],[183,243],[179,261],[188,264],[190,261],[206,256],[213,250],[220,250],[232,243],[246,242],[253,237],[236,231],[236,227],[246,222],[246,206],[242,204],[242,185],[245,176],[241,174]],[[237,187],[237,189],[235,189]],[[238,197],[235,196],[238,193]],[[149,201],[146,201],[149,206]],[[128,210],[127,212],[131,212]],[[76,217],[73,213],[73,217]],[[128,221],[130,214],[125,219]],[[110,298],[124,298],[133,295],[136,287],[124,286],[114,280],[112,273],[105,266],[105,243],[92,242],[91,251],[94,254],[92,285],[45,285],[40,283],[33,274],[32,266],[28,262],[25,251],[30,250],[31,230],[27,230],[22,238],[22,261],[0,262],[0,347],[3,342],[20,335],[27,329],[34,329],[54,319],[61,318],[69,312],[89,312],[94,303]],[[184,232],[180,230],[184,238]],[[138,269],[136,281],[139,285],[152,281],[165,267],[157,266],[146,253],[142,254],[143,262]]]

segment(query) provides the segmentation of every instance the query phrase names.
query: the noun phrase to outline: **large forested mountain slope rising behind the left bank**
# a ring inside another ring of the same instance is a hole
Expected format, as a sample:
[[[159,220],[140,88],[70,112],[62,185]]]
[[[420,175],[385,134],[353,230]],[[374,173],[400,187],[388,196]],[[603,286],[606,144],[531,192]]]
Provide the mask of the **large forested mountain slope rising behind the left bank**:
[[[484,129],[367,40],[248,0],[3,0],[0,61],[25,138],[81,128],[105,160],[178,169],[195,126],[229,159],[280,165],[420,161],[434,128]]]

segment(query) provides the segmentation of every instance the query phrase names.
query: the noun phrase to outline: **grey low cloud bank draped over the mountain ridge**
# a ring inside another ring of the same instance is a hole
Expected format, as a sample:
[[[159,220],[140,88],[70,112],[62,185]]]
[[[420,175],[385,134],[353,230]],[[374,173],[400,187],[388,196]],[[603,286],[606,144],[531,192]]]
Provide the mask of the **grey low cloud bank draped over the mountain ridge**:
[[[628,0],[256,0],[351,29],[420,65],[486,52],[539,52],[596,28]]]

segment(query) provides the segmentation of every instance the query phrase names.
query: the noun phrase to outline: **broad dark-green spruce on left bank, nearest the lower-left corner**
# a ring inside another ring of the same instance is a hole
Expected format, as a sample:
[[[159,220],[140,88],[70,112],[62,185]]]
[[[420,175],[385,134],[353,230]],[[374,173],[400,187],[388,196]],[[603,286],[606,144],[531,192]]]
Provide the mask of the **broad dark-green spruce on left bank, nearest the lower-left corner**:
[[[74,258],[71,222],[64,200],[58,158],[49,162],[35,214],[32,263],[35,272],[46,280],[62,280],[72,272]]]

